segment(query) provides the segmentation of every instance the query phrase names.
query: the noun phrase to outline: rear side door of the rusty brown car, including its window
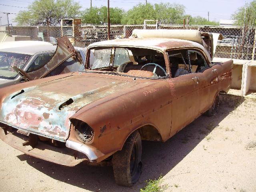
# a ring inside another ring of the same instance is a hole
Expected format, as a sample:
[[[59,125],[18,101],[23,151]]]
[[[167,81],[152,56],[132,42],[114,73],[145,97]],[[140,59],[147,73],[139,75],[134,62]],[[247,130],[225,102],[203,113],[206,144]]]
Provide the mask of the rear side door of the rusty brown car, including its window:
[[[218,92],[218,73],[215,68],[209,66],[203,54],[196,50],[188,50],[190,68],[192,74],[198,80],[198,98],[200,100],[200,114],[210,108]]]

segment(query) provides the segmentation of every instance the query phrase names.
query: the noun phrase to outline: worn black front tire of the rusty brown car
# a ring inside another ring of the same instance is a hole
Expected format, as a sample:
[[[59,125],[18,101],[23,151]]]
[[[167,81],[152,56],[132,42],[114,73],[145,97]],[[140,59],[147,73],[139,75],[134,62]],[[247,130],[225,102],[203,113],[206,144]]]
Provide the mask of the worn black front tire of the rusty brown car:
[[[118,185],[132,186],[141,174],[142,144],[138,131],[133,132],[124,143],[122,150],[113,154],[114,178]]]

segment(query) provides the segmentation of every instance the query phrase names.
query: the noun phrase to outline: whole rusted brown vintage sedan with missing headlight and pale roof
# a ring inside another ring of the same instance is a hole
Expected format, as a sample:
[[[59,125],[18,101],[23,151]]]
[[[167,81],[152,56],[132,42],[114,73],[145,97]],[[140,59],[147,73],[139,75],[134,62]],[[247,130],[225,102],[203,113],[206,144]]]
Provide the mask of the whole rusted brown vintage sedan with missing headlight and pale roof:
[[[210,52],[188,40],[97,42],[84,72],[1,89],[0,138],[66,166],[112,158],[116,182],[130,186],[140,176],[141,140],[164,142],[201,114],[214,115],[232,66],[211,64]]]

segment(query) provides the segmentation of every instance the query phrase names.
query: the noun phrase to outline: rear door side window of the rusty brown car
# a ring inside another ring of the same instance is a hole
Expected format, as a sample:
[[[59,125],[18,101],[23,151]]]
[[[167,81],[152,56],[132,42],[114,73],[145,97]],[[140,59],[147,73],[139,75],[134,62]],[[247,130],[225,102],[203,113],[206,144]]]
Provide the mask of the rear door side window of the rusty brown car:
[[[208,67],[204,57],[200,52],[189,50],[188,57],[192,73],[202,72],[202,70]]]

